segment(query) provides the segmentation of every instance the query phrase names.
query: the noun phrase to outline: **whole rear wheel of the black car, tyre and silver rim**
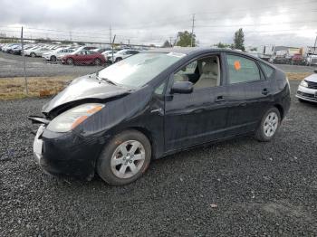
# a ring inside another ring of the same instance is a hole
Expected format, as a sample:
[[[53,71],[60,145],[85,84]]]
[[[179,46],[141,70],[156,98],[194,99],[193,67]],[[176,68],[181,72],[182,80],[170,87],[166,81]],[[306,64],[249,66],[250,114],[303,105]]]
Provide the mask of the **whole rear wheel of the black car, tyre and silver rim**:
[[[271,108],[266,111],[261,120],[259,127],[255,131],[255,138],[258,141],[272,140],[281,124],[281,114],[276,108]]]

